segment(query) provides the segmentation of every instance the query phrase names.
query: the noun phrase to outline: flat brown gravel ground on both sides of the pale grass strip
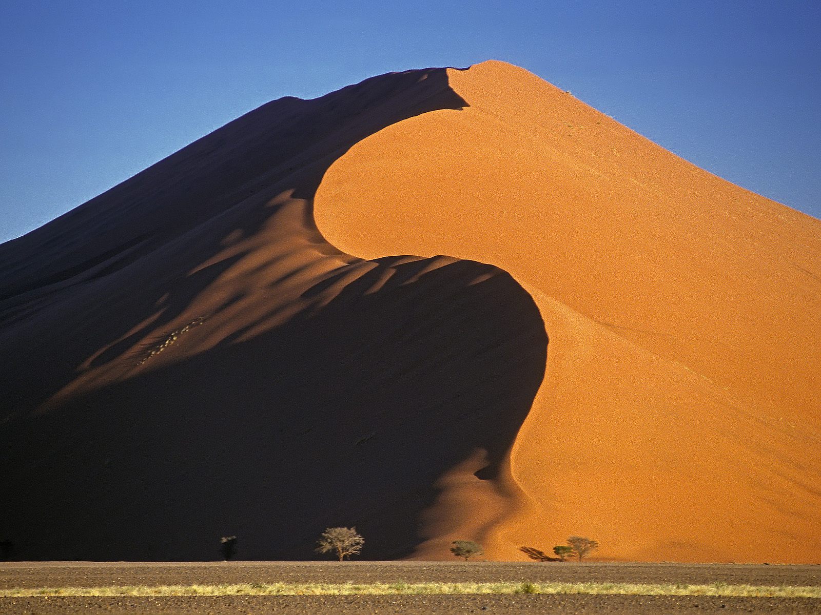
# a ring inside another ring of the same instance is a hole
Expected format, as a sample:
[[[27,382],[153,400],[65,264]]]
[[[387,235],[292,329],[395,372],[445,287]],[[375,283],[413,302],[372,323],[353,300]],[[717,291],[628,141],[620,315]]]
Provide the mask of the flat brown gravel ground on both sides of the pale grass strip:
[[[273,582],[821,585],[821,566],[681,563],[0,563],[0,589]],[[0,598],[0,613],[821,613],[821,600],[630,595]]]

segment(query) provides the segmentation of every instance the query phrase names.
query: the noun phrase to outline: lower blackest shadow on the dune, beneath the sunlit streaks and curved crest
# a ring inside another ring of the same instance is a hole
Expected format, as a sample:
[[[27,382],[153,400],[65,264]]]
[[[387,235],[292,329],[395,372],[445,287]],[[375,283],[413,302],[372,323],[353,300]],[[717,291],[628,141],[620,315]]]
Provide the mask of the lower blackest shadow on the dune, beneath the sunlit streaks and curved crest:
[[[365,294],[392,260],[313,316],[30,422],[4,481],[21,556],[211,559],[227,526],[243,558],[316,558],[328,526],[356,526],[363,558],[407,555],[439,476],[477,447],[496,475],[547,337],[476,262],[410,283],[429,259],[406,262]]]

